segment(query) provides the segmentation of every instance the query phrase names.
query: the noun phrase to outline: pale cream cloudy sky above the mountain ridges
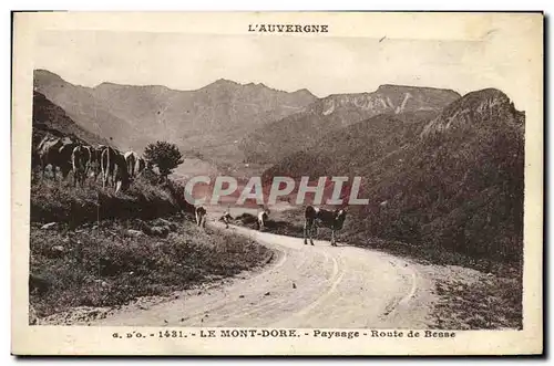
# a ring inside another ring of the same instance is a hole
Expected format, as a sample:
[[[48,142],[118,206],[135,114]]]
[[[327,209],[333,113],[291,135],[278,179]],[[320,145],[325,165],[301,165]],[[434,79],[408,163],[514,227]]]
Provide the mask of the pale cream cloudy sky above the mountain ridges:
[[[102,82],[197,90],[218,79],[319,97],[372,92],[381,84],[506,93],[525,108],[525,54],[500,31],[480,41],[43,31],[34,69],[79,85]]]

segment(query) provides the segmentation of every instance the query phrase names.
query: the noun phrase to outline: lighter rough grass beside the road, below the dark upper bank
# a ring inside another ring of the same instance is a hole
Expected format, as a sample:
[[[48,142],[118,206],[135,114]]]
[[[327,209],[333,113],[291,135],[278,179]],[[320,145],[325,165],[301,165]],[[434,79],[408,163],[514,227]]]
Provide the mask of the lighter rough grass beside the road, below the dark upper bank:
[[[175,222],[174,220],[170,222]],[[31,293],[39,317],[75,306],[121,305],[138,296],[230,276],[261,264],[269,251],[236,236],[176,221],[166,238],[130,236],[137,221],[103,221],[71,231],[31,228],[31,273],[45,282]],[[174,227],[175,228],[175,227]]]

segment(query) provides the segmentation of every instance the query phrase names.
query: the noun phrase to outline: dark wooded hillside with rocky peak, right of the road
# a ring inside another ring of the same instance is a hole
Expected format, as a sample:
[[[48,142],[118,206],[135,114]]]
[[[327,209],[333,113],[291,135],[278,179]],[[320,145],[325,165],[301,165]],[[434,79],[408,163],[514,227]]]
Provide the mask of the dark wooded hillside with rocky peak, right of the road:
[[[368,124],[377,129],[363,133]],[[369,205],[350,207],[349,240],[380,237],[478,260],[522,259],[524,113],[501,91],[469,93],[427,123],[378,116],[329,134],[314,149],[266,177],[361,176],[359,196]]]

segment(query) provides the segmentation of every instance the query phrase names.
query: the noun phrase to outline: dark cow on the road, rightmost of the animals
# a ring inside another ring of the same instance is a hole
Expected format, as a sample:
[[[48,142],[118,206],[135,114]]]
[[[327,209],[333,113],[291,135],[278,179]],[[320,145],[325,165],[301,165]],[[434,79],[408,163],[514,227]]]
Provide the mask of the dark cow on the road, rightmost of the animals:
[[[314,245],[311,237],[317,231],[317,226],[320,224],[325,228],[331,229],[331,245],[337,247],[335,232],[342,229],[346,215],[347,212],[345,209],[329,211],[314,206],[306,207],[306,210],[304,211],[304,243],[308,244],[307,238],[309,238],[310,243]]]

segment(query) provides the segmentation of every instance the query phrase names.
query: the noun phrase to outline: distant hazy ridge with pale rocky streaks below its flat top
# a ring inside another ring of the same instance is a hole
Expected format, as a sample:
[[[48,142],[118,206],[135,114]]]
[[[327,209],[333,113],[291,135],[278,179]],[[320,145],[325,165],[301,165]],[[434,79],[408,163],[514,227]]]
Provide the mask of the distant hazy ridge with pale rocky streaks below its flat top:
[[[381,85],[373,93],[337,94],[318,100],[306,111],[274,122],[244,137],[240,148],[252,163],[277,163],[308,149],[331,130],[378,114],[439,112],[460,94],[450,90]]]

